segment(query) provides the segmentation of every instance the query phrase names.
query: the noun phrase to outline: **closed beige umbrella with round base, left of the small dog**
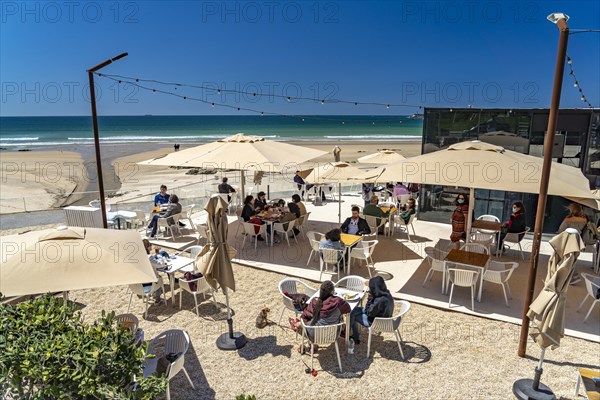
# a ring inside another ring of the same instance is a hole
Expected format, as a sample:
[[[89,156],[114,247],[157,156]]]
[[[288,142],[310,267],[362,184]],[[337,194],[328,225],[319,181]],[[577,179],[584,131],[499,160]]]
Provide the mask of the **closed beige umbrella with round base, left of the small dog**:
[[[206,207],[208,213],[208,230],[211,236],[196,258],[196,269],[202,273],[206,281],[215,290],[220,286],[225,294],[227,304],[227,324],[229,332],[219,336],[217,347],[221,350],[236,350],[246,345],[247,339],[240,332],[233,332],[233,320],[229,308],[228,289],[235,291],[235,278],[231,259],[236,251],[227,244],[227,202],[221,196],[212,196]]]

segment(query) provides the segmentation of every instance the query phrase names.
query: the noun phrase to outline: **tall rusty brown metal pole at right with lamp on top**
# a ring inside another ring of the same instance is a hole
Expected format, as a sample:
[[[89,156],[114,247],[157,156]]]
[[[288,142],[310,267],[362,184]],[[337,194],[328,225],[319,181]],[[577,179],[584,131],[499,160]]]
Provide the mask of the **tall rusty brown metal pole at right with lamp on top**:
[[[569,41],[569,27],[566,19],[564,17],[560,18],[556,24],[560,31],[560,37],[558,39],[558,54],[556,56],[556,69],[554,71],[554,88],[552,90],[550,115],[548,116],[548,132],[544,141],[544,163],[542,168],[537,212],[535,215],[535,230],[533,233],[533,247],[531,249],[529,276],[527,278],[525,302],[523,303],[523,319],[521,322],[521,336],[519,337],[519,357],[525,357],[525,352],[527,349],[527,336],[529,334],[529,317],[527,317],[527,313],[529,312],[529,305],[533,300],[533,292],[535,290],[538,256],[540,253],[540,242],[542,239],[542,228],[544,225],[544,213],[546,211],[546,197],[548,195],[550,168],[552,166],[552,147],[554,145],[554,134],[556,132],[556,124],[558,121],[560,94],[562,89],[563,74],[565,72],[565,58],[567,56],[567,43]]]

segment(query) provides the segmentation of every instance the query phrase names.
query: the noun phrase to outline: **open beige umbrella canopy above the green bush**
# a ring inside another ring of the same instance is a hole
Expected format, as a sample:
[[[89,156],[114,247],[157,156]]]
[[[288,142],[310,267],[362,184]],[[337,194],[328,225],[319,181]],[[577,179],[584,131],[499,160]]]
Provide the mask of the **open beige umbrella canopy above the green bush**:
[[[135,231],[63,227],[4,236],[0,244],[5,296],[156,281]]]

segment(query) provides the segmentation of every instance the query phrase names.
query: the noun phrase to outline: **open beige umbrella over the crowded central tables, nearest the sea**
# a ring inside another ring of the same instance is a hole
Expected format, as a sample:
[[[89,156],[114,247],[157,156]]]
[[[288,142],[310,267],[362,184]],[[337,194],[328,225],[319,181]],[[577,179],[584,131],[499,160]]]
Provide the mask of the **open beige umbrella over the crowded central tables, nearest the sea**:
[[[242,171],[241,184],[242,196],[244,196],[244,171],[295,171],[300,169],[299,164],[325,154],[328,153],[238,133],[216,142],[176,151],[138,164]]]

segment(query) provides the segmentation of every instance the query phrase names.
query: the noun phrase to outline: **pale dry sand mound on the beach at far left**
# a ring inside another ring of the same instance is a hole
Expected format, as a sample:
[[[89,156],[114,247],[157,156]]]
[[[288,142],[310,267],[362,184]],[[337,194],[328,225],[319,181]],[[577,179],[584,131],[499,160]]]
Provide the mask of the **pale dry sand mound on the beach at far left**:
[[[87,187],[79,152],[2,152],[0,160],[0,214],[60,207],[71,193]]]

